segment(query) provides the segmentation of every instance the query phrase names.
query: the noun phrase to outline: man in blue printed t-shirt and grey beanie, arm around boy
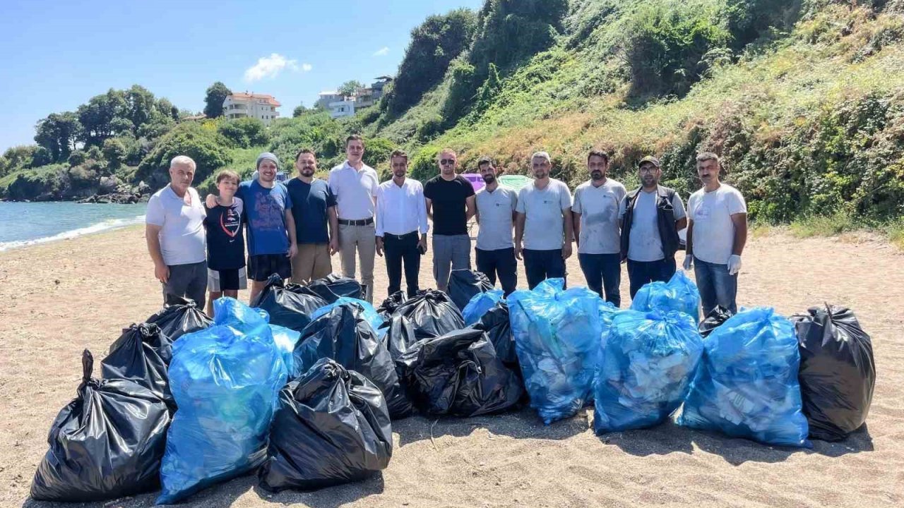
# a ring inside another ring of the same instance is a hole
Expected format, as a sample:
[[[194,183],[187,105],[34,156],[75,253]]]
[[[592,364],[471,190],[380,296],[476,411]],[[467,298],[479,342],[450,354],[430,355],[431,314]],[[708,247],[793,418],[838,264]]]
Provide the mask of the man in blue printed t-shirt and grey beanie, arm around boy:
[[[257,167],[258,178],[242,182],[236,193],[245,206],[250,302],[263,291],[271,275],[292,277],[291,259],[298,250],[292,198],[286,185],[277,182],[279,159],[264,152],[258,155]],[[207,196],[207,205],[209,208],[216,205],[212,195]]]

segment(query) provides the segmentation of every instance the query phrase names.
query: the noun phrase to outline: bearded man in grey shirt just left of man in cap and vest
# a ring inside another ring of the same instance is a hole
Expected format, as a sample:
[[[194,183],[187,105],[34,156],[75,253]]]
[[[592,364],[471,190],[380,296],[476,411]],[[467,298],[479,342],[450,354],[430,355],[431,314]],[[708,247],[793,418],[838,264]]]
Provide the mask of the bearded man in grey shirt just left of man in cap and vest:
[[[580,270],[590,289],[612,305],[621,306],[618,204],[625,198],[625,185],[607,178],[609,155],[606,152],[591,151],[587,169],[590,180],[574,190],[571,205]]]

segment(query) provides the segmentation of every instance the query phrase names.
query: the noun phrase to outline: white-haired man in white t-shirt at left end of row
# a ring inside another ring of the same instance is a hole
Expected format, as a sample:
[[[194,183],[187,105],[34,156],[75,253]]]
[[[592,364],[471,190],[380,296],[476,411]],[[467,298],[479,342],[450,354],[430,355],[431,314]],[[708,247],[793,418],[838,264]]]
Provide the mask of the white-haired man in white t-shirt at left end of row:
[[[170,162],[170,183],[147,202],[145,237],[154,277],[163,285],[164,304],[188,297],[204,307],[207,240],[204,203],[192,187],[194,161],[178,155]]]

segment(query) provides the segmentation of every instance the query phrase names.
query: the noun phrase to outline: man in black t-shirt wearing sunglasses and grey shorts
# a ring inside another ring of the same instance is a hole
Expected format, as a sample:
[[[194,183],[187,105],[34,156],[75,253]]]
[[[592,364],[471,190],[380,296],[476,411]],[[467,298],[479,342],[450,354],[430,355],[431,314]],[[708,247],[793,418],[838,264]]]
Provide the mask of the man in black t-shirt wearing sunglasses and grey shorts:
[[[438,164],[439,174],[424,184],[424,198],[427,214],[433,220],[433,277],[438,289],[446,291],[451,270],[471,269],[467,221],[474,217],[476,207],[474,187],[456,174],[456,153],[443,149]]]

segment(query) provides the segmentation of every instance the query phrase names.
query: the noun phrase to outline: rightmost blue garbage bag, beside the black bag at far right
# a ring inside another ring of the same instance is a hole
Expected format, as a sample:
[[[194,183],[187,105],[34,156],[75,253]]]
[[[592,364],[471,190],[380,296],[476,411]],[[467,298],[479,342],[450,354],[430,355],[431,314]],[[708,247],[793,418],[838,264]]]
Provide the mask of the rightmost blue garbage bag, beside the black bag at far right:
[[[771,308],[742,309],[703,342],[678,424],[767,445],[811,447],[794,325]]]

